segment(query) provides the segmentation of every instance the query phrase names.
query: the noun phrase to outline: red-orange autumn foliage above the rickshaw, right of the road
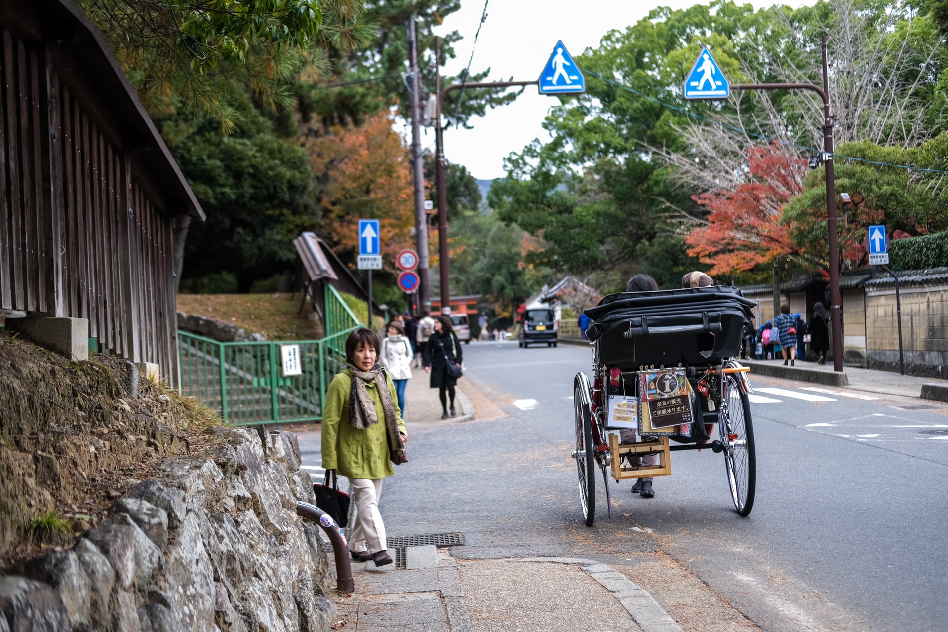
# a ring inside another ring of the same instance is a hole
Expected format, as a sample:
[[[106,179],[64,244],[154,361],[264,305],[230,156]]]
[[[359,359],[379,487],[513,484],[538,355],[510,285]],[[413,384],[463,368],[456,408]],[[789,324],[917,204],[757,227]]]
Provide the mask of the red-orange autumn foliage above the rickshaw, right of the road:
[[[791,227],[780,223],[780,213],[803,190],[806,161],[773,144],[748,150],[747,164],[750,180],[736,190],[693,197],[709,214],[707,224],[688,235],[688,252],[713,266],[711,276],[751,270],[795,253]]]

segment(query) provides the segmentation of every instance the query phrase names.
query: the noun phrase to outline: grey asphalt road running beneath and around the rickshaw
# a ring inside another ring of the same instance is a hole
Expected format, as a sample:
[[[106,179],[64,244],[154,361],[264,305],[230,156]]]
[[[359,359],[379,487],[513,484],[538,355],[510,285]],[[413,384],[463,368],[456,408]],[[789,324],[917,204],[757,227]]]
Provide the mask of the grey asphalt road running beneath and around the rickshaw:
[[[416,453],[444,459],[415,463],[427,492],[414,474],[411,485],[396,477],[392,524],[465,531],[462,554],[485,558],[614,558],[657,544],[767,630],[945,629],[948,406],[752,378],[750,516],[733,511],[723,459],[706,450],[673,454],[674,476],[656,479],[651,499],[610,481],[611,519],[600,480],[586,528],[570,451],[573,376],[590,368],[580,347],[465,348],[468,379],[510,417],[415,428],[426,448]],[[393,515],[419,493],[426,515]]]

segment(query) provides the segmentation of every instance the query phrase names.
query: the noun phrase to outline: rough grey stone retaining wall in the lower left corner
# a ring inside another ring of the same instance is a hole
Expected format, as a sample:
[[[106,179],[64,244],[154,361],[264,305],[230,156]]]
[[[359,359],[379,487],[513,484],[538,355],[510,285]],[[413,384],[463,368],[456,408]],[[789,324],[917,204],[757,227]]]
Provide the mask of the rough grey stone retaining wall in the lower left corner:
[[[328,631],[335,584],[300,448],[216,427],[211,459],[173,457],[71,549],[0,577],[0,632]]]

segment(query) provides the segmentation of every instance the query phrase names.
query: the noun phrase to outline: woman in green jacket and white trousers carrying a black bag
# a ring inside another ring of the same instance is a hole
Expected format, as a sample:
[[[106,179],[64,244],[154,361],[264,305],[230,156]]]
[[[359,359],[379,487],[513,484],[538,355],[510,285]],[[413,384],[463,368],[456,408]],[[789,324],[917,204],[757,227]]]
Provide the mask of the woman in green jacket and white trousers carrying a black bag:
[[[408,432],[392,378],[376,362],[378,348],[378,337],[369,329],[356,330],[346,339],[346,368],[326,390],[322,466],[337,470],[352,484],[356,520],[349,551],[353,559],[372,560],[380,567],[392,564],[378,512],[382,479],[394,474],[390,460],[407,460]],[[381,375],[386,388],[377,386]]]

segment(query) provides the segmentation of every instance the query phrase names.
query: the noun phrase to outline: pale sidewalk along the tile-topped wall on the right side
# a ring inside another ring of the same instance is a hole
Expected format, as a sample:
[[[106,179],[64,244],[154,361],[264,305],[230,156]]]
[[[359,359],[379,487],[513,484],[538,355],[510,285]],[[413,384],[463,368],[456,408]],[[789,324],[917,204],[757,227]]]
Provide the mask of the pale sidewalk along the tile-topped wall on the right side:
[[[844,367],[842,372],[833,370],[831,364],[796,362],[795,367],[784,367],[783,360],[741,360],[752,373],[780,377],[788,380],[825,384],[833,387],[853,388],[886,395],[921,397],[922,399],[948,401],[948,380],[935,377],[900,375],[887,370]]]

